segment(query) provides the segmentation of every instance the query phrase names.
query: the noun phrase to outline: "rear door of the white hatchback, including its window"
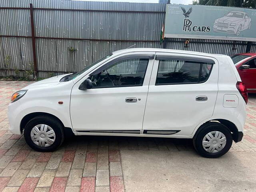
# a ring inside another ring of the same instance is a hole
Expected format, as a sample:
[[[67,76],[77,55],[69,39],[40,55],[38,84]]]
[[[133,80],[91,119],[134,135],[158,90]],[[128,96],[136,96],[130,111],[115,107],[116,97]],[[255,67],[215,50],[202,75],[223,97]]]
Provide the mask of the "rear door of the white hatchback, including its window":
[[[200,122],[212,116],[217,92],[216,59],[156,53],[143,133],[192,134]]]

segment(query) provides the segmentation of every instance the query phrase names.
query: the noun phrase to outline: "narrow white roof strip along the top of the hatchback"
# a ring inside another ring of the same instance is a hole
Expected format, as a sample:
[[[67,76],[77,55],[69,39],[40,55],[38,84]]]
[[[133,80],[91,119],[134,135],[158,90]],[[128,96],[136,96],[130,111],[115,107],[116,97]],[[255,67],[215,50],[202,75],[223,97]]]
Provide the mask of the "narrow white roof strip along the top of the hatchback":
[[[114,51],[113,54],[129,53],[129,52],[166,52],[166,53],[180,53],[180,54],[192,54],[200,56],[225,56],[222,54],[209,54],[195,51],[185,51],[185,50],[174,50],[174,49],[160,49],[160,48],[129,48]]]

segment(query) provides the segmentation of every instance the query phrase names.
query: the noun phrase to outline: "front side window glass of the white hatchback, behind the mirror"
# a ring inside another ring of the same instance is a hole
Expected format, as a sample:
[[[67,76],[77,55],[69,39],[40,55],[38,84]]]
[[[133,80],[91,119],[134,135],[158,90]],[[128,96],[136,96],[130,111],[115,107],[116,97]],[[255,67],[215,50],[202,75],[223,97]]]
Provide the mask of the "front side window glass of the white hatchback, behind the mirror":
[[[92,88],[142,86],[148,59],[126,59],[90,76]]]

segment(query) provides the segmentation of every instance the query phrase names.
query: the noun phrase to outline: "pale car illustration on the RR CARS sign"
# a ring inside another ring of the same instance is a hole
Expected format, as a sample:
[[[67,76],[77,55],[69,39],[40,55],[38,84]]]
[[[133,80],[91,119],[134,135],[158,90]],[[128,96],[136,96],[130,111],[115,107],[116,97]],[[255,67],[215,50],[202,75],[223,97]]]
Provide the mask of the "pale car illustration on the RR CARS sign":
[[[250,29],[251,24],[252,19],[247,13],[230,11],[225,16],[214,20],[213,30],[239,36],[243,30]]]

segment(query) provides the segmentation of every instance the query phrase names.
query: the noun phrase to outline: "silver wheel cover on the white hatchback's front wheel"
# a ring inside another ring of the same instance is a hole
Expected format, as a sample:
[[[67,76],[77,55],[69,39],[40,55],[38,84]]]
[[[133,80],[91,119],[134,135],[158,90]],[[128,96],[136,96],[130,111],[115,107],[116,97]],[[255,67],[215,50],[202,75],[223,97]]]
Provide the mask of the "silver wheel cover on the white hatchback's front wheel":
[[[51,146],[55,141],[54,130],[45,124],[39,124],[32,128],[30,136],[34,144],[40,147]]]

